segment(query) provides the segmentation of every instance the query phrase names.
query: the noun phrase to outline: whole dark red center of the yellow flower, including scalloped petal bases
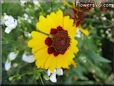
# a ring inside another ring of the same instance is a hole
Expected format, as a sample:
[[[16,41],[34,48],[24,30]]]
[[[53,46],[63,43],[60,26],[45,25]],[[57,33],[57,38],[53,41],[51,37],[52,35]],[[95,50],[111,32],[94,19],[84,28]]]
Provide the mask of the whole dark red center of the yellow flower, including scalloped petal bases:
[[[68,32],[61,26],[58,26],[57,28],[51,29],[50,35],[51,37],[47,37],[45,40],[45,44],[48,46],[48,53],[54,54],[54,56],[64,54],[70,46]]]

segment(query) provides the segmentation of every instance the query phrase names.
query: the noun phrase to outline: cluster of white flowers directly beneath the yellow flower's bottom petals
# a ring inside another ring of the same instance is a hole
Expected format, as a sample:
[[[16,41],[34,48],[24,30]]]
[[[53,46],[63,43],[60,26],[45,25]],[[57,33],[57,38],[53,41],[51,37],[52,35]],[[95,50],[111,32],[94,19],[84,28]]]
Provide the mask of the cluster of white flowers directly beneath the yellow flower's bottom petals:
[[[60,69],[60,68],[57,68],[57,69],[54,70],[53,73],[51,73],[50,70],[48,69],[47,74],[49,76],[49,79],[45,78],[45,80],[50,80],[51,82],[55,83],[55,82],[57,82],[56,75],[62,76],[63,75],[63,70]]]

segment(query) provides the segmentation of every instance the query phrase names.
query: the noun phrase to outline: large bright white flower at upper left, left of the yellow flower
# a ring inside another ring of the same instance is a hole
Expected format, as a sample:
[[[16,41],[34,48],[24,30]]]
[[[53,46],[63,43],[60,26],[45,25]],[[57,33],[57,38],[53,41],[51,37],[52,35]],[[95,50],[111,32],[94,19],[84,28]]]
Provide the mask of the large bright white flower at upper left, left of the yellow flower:
[[[17,26],[17,20],[14,19],[12,16],[8,16],[6,14],[3,17],[3,21],[2,22],[6,26],[6,29],[5,29],[6,33],[10,33]]]

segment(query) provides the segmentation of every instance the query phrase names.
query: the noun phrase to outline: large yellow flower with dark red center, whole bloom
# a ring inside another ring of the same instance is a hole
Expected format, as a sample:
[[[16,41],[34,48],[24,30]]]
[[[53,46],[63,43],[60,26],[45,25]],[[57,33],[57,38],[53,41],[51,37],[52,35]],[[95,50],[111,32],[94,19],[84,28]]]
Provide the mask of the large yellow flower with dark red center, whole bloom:
[[[78,52],[77,40],[74,39],[77,28],[69,16],[63,16],[58,10],[46,17],[40,16],[36,24],[37,31],[31,33],[28,46],[32,48],[38,68],[69,68],[73,64],[74,54]],[[42,34],[42,33],[46,34]]]

